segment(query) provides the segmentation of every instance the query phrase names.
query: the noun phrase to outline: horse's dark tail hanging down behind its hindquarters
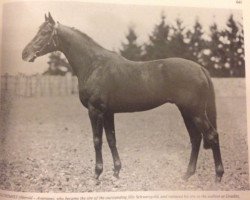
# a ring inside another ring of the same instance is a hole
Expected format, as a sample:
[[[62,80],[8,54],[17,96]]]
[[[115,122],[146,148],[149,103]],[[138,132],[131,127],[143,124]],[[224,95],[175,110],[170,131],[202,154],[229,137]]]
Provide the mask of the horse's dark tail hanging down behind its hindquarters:
[[[217,122],[216,122],[217,114],[216,114],[214,85],[212,83],[209,72],[203,67],[202,67],[202,71],[204,72],[204,74],[207,78],[208,84],[209,84],[209,93],[208,93],[208,97],[207,97],[206,114],[207,114],[208,120],[211,123],[211,125],[215,129],[217,129]]]

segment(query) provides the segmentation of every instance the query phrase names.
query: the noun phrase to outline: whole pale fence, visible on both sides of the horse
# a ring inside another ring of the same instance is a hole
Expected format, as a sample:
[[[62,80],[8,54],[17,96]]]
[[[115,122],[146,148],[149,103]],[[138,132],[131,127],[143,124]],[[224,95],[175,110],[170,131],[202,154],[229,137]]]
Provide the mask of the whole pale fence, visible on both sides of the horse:
[[[216,96],[245,96],[244,78],[213,78]],[[228,88],[225,90],[225,88]],[[75,76],[49,75],[9,75],[1,76],[1,96],[13,97],[52,97],[78,94],[78,81]]]

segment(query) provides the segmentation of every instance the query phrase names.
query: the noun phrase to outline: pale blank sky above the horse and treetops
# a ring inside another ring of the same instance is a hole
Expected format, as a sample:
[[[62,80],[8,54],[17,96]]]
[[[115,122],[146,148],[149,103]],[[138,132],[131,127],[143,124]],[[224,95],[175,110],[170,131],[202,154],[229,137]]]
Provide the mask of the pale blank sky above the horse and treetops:
[[[121,47],[131,24],[139,37],[138,43],[148,41],[155,24],[160,21],[162,11],[170,24],[180,17],[187,27],[191,27],[198,17],[205,31],[208,31],[209,25],[214,21],[220,28],[224,28],[231,13],[237,21],[242,21],[241,11],[230,9],[70,1],[8,3],[3,8],[2,72],[34,74],[41,73],[48,67],[48,55],[37,58],[34,63],[24,62],[21,58],[23,48],[34,37],[48,11],[56,21],[76,27],[109,50],[118,50]]]

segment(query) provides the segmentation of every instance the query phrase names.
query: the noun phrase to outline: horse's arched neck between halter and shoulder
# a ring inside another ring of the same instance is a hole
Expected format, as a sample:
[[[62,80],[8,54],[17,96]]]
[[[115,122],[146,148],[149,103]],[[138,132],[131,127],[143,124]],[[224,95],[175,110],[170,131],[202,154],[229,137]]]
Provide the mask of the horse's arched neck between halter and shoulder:
[[[78,79],[86,79],[93,70],[93,62],[105,56],[105,49],[88,36],[72,28],[60,25],[58,28],[60,51],[64,53]]]

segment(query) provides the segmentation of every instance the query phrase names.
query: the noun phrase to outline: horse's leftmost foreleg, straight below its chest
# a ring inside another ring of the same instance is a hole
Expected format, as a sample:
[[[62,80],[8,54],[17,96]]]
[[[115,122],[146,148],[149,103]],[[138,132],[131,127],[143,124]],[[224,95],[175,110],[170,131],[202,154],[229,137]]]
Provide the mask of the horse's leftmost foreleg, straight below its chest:
[[[102,160],[102,133],[103,133],[103,113],[89,106],[89,118],[93,130],[93,141],[95,147],[96,164],[95,164],[95,178],[98,179],[103,171]]]

